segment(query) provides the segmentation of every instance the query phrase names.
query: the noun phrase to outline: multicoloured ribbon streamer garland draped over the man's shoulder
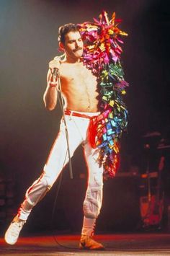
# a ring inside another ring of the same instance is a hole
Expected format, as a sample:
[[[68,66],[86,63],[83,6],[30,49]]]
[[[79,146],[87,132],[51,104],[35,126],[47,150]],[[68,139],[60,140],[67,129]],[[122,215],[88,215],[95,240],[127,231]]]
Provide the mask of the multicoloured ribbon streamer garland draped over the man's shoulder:
[[[99,20],[79,24],[84,40],[84,65],[97,76],[101,115],[89,128],[91,146],[99,149],[99,164],[104,165],[104,176],[114,177],[119,166],[120,137],[128,125],[128,110],[122,100],[128,83],[120,63],[122,40],[128,35],[117,25],[115,12],[109,21],[107,12]],[[95,139],[94,139],[95,138]]]

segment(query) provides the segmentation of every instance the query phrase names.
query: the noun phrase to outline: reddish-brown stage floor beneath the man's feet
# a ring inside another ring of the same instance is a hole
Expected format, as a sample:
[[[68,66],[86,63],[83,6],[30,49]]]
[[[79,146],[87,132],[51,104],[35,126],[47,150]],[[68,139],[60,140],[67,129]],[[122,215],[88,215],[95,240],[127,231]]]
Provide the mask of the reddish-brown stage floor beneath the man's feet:
[[[99,234],[95,236],[102,242],[104,251],[79,250],[79,235],[39,234],[20,237],[13,246],[0,238],[0,255],[39,256],[39,255],[170,255],[170,234],[138,233],[138,234]],[[57,244],[57,242],[60,244]]]

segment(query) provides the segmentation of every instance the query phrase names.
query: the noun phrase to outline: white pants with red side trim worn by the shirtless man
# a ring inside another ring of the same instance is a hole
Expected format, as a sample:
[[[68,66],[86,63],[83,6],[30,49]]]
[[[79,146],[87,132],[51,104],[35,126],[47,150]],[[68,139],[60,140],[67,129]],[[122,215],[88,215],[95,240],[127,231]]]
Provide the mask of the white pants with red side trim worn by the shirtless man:
[[[89,116],[97,115],[97,113],[84,114]],[[80,144],[84,146],[84,157],[86,159],[89,177],[86,197],[84,200],[84,226],[82,234],[91,235],[92,229],[94,229],[95,220],[97,219],[102,206],[103,167],[99,167],[99,164],[97,163],[99,154],[98,149],[92,149],[88,142],[89,122],[89,118],[66,115],[71,156],[73,156],[74,151]],[[48,190],[50,190],[50,187],[52,187],[67,163],[68,150],[66,130],[62,119],[60,131],[50,151],[42,175],[28,188],[25,200],[19,208],[19,219],[27,220],[33,206],[35,206],[45,196]]]

